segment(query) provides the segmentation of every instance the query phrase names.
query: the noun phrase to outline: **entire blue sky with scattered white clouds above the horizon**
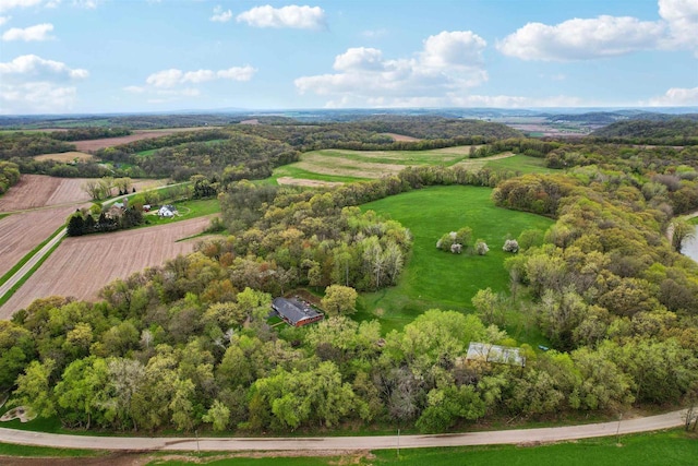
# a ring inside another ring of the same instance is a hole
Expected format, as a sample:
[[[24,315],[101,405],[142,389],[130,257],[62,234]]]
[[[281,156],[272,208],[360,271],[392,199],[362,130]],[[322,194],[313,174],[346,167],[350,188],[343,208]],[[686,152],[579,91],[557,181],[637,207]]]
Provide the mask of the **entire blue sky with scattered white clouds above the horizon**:
[[[0,0],[0,113],[698,106],[698,0]]]

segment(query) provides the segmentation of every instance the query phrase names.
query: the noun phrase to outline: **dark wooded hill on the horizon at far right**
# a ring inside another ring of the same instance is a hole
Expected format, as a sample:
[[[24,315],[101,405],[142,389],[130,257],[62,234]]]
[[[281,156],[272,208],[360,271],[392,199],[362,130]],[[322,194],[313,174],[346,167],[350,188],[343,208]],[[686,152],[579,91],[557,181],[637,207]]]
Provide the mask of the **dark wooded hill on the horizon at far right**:
[[[617,121],[594,131],[591,136],[638,143],[698,144],[698,115],[685,115],[670,120]]]

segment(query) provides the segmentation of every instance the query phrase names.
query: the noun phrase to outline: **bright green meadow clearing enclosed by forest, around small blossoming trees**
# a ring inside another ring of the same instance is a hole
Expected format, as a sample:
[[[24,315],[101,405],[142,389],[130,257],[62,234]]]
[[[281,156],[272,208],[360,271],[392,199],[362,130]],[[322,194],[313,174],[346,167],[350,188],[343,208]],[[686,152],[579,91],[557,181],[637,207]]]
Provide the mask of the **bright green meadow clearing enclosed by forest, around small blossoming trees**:
[[[389,196],[361,206],[400,222],[412,232],[412,254],[399,284],[377,292],[363,294],[359,319],[378,316],[383,330],[401,328],[422,312],[438,308],[468,312],[479,289],[508,291],[509,275],[502,251],[507,238],[526,229],[544,231],[550,218],[494,205],[492,190],[477,187],[433,187]],[[446,232],[472,229],[473,242],[482,238],[486,255],[450,254],[436,249]]]

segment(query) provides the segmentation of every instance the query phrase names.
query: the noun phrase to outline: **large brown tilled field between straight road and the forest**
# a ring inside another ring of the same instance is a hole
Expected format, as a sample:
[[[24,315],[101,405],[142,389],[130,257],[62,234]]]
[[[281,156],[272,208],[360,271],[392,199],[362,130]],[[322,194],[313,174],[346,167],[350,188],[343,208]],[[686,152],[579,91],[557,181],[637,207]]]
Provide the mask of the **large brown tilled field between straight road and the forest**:
[[[130,231],[67,238],[0,308],[0,319],[9,319],[37,298],[53,295],[96,300],[99,290],[113,279],[191,252],[200,239],[176,241],[203,231],[209,222],[210,217],[200,217]]]

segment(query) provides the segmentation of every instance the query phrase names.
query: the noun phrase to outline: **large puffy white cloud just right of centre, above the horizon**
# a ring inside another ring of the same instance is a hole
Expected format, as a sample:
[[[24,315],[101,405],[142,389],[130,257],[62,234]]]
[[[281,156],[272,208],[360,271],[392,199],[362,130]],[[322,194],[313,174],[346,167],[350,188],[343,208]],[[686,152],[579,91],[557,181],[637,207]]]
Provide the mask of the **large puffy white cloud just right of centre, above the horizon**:
[[[478,35],[457,31],[428,37],[412,58],[386,59],[376,48],[350,48],[335,57],[336,73],[298,77],[294,84],[301,94],[330,97],[328,106],[444,105],[488,80],[485,46]]]

